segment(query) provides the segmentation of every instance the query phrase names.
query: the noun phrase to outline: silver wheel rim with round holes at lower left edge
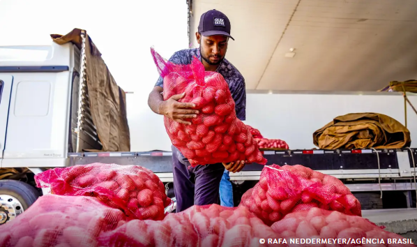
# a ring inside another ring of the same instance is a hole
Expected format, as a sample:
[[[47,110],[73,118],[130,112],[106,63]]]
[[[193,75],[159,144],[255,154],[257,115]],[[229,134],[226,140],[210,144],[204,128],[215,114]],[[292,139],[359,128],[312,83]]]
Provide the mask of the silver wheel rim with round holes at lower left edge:
[[[24,212],[22,202],[11,195],[0,195],[0,225],[14,220]]]

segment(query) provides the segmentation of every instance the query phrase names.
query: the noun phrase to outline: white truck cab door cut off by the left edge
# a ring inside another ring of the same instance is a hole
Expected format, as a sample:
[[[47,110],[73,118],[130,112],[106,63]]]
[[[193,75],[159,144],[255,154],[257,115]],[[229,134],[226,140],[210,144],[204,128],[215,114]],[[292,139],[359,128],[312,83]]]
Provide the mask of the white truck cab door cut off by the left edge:
[[[8,110],[10,106],[12,84],[13,76],[0,74],[0,159],[3,158],[4,146],[6,144]]]

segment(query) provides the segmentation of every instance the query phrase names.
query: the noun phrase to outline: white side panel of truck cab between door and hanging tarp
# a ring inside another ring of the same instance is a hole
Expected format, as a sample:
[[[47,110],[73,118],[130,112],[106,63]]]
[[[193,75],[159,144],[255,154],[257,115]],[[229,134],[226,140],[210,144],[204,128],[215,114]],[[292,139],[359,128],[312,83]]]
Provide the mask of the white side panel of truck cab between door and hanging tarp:
[[[22,82],[30,83],[23,84],[22,94],[20,94],[22,87],[13,87],[10,112],[15,114],[10,114],[8,119],[4,158],[65,156],[68,139],[70,72],[16,73],[14,78],[16,85]],[[38,87],[36,82],[45,83],[40,83]],[[20,100],[20,96],[24,98]],[[31,102],[33,100],[36,102]],[[36,109],[32,104],[41,109]],[[45,105],[48,105],[46,110]]]

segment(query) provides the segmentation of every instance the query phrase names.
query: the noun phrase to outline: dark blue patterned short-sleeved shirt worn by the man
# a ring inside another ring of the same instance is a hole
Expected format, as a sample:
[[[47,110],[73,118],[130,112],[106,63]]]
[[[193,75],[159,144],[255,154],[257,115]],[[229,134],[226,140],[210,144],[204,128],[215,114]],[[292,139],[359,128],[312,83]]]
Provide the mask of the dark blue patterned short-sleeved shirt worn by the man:
[[[169,59],[170,62],[175,64],[187,65],[190,64],[193,57],[197,57],[199,61],[202,60],[199,49],[186,49],[179,52],[175,52],[174,55]],[[242,74],[234,68],[232,63],[223,59],[215,72],[222,75],[227,84],[229,84],[230,93],[235,103],[236,117],[245,121],[246,119],[246,89],[245,79]],[[159,77],[158,82],[155,86],[163,87],[164,81],[162,77]]]

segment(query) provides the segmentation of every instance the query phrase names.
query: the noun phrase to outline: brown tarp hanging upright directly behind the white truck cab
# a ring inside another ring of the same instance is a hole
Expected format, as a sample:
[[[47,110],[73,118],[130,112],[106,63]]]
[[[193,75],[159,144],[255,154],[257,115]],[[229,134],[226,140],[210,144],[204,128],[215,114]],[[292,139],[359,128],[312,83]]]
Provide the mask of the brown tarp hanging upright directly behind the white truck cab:
[[[82,29],[74,29],[65,36],[51,34],[51,37],[59,45],[71,42],[81,49],[81,33]],[[87,33],[85,53],[91,117],[103,145],[100,151],[130,151],[126,93],[116,84],[100,51]]]

